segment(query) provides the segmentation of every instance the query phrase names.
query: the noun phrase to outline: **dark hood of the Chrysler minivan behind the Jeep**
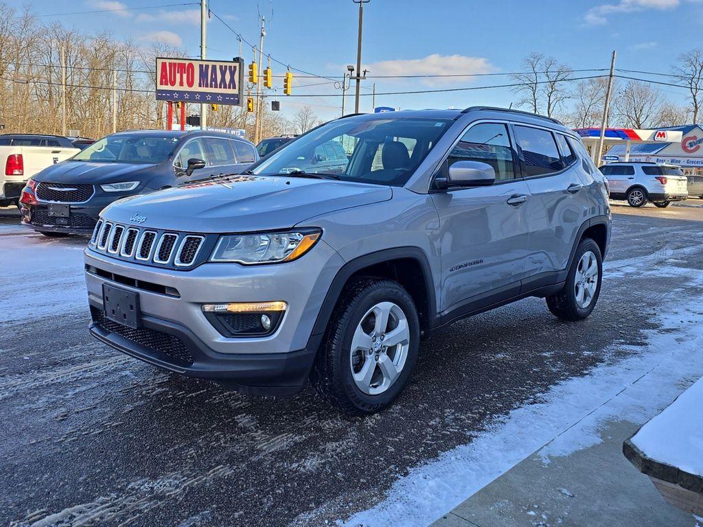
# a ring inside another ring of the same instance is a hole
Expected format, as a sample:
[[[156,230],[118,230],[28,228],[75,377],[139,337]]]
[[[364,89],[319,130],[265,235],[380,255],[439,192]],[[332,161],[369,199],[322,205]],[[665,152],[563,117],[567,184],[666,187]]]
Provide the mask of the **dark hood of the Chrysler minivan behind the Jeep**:
[[[49,183],[117,183],[118,181],[130,181],[129,178],[141,181],[141,173],[152,167],[155,165],[63,161],[46,167],[32,179]]]

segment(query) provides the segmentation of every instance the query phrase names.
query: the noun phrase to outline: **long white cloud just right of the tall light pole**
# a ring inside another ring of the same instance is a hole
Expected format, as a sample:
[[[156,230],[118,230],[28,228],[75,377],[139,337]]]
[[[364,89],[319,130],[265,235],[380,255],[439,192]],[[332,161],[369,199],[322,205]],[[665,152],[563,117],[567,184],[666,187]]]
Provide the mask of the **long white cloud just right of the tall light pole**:
[[[447,75],[447,74],[476,74],[491,73],[496,67],[488,59],[467,57],[463,55],[439,55],[433,53],[425,58],[409,58],[399,60],[381,60],[377,63],[364,65],[362,69],[369,70],[370,76],[376,75]],[[442,84],[448,82],[467,82],[471,77],[435,77],[420,79],[425,84]]]

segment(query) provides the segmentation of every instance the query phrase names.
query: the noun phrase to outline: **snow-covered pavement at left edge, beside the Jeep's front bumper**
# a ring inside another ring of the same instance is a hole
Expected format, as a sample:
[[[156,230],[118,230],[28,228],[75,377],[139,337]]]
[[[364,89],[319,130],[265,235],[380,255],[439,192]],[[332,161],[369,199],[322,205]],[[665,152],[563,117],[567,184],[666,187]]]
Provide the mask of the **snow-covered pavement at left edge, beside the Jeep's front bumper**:
[[[0,225],[0,322],[87,311],[86,240],[47,238],[27,233],[26,227]]]

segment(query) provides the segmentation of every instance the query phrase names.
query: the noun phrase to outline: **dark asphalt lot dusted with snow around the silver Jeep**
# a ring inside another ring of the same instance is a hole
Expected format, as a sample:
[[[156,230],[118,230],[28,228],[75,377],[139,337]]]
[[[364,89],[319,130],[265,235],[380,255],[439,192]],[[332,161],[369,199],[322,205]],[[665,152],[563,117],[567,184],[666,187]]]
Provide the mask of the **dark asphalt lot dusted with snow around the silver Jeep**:
[[[558,382],[637,356],[657,315],[700,296],[687,277],[703,268],[703,202],[613,210],[591,318],[563,323],[527,299],[456,323],[423,342],[408,390],[371,417],[310,389],[240,396],[91,339],[86,240],[44,238],[3,213],[0,523],[318,525],[374,507]]]

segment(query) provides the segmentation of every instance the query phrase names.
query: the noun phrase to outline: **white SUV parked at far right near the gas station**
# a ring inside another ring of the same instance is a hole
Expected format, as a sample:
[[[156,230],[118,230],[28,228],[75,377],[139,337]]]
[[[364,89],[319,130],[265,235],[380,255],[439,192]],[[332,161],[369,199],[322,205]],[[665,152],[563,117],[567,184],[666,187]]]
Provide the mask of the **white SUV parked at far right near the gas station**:
[[[659,208],[688,197],[688,179],[681,169],[666,164],[613,162],[600,167],[607,178],[610,197],[627,200],[630,207],[647,202]]]

